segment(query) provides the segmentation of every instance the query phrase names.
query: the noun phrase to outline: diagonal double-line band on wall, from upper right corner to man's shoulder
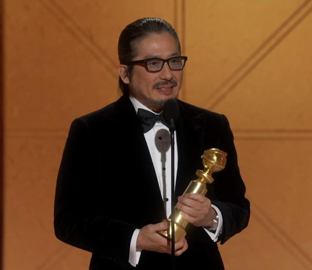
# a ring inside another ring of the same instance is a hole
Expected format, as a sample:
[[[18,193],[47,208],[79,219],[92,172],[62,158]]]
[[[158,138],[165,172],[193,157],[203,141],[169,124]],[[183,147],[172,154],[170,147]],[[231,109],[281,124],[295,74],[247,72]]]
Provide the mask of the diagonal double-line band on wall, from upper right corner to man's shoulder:
[[[212,109],[219,104],[275,47],[290,34],[312,11],[311,0],[305,1],[268,37],[204,103]]]

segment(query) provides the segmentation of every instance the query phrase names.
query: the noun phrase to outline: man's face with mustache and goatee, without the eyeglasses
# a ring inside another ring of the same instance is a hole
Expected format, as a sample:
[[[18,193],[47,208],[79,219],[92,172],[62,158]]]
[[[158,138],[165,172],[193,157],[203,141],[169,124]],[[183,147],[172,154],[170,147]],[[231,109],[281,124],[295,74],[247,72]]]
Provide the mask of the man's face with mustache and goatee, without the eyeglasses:
[[[136,51],[133,61],[180,56],[178,44],[168,32],[150,34],[138,42]],[[158,72],[148,72],[144,66],[135,65],[129,82],[130,94],[149,109],[159,112],[166,100],[178,97],[182,74],[183,70],[171,70],[168,63],[164,63]]]

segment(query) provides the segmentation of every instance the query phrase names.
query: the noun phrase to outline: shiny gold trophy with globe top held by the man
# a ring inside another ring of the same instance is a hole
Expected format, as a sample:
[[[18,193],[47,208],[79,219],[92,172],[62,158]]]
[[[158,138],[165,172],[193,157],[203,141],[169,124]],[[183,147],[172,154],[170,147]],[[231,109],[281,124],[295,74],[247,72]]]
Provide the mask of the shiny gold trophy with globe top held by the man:
[[[225,168],[227,163],[227,153],[223,152],[217,148],[212,148],[206,150],[202,154],[202,164],[204,165],[204,170],[197,170],[196,175],[198,178],[190,182],[188,187],[183,193],[199,193],[205,195],[207,193],[206,184],[211,184],[214,180],[212,178],[212,173],[221,171]],[[165,238],[171,239],[171,216],[167,219],[169,222],[169,228],[166,231],[159,231],[158,233]],[[181,238],[185,237],[185,227],[188,224],[184,218],[182,218],[182,211],[174,208],[174,242],[178,242]]]

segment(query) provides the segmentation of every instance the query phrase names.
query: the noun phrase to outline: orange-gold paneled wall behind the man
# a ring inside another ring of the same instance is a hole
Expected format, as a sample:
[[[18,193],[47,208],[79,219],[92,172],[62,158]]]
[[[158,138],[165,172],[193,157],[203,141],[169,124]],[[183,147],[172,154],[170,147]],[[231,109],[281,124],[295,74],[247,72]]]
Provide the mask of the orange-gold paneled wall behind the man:
[[[226,269],[312,269],[312,1],[4,4],[5,270],[88,269],[54,236],[56,175],[71,121],[119,97],[119,33],[141,17],[178,32],[180,98],[230,121],[251,218]]]

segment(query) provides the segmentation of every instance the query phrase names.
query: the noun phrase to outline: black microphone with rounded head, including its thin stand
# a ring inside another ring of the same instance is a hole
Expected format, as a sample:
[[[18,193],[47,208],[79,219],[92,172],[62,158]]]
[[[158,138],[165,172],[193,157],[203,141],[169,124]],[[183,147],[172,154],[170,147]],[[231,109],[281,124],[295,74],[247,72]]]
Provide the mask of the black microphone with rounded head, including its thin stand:
[[[174,130],[179,117],[179,105],[175,99],[168,99],[164,103],[163,116],[169,123],[171,138],[171,269],[174,270]]]

